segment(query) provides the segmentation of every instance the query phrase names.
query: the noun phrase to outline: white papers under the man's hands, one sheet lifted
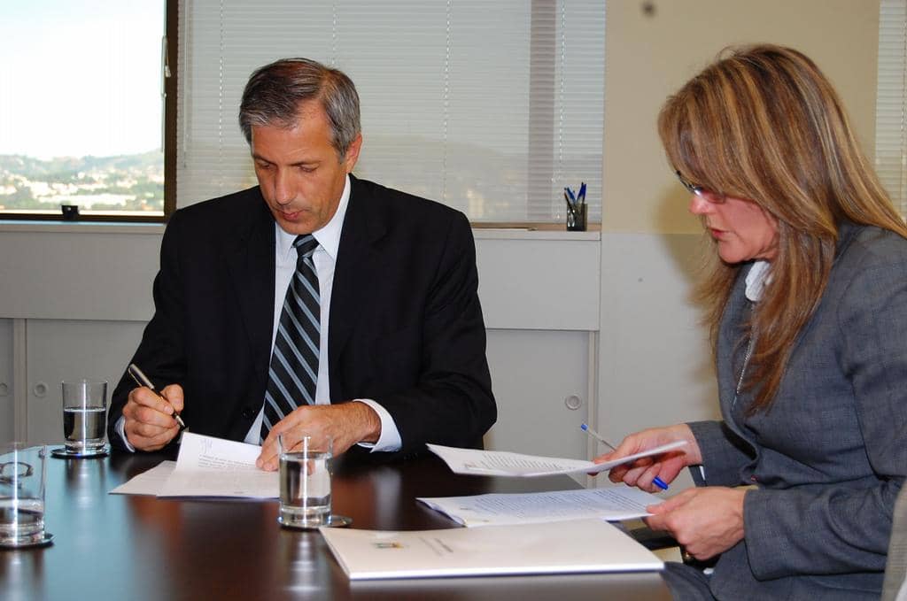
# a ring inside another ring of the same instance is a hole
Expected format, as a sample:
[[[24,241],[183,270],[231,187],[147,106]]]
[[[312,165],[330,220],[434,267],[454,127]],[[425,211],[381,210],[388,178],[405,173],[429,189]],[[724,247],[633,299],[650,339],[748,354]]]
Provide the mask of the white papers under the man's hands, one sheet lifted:
[[[258,470],[261,447],[183,432],[176,463],[158,466],[111,490],[158,497],[246,497],[277,499],[277,471]]]

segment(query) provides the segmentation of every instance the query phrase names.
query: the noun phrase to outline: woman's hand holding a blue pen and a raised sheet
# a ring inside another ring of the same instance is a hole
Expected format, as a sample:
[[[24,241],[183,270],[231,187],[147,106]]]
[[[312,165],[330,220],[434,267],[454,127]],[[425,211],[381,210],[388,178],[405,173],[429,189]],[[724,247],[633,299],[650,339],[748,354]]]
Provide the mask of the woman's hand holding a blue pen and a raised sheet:
[[[643,457],[631,463],[616,466],[608,474],[608,478],[612,482],[625,482],[629,486],[635,486],[642,490],[658,492],[660,489],[652,483],[656,476],[665,482],[670,482],[677,478],[680,470],[685,467],[702,463],[699,445],[693,436],[693,431],[689,429],[686,423],[666,428],[652,428],[630,434],[623,441],[620,441],[616,451],[600,455],[594,461],[596,463],[612,461],[649,451],[649,449],[674,441],[687,441],[687,444],[679,449],[660,455]]]

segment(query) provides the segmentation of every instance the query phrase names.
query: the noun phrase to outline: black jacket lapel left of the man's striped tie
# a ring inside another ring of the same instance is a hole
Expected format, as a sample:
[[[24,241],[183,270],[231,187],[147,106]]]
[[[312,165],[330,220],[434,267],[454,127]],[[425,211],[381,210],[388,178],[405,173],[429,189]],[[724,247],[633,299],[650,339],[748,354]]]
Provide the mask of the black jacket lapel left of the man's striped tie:
[[[249,228],[236,233],[224,257],[239,303],[242,326],[249,335],[257,373],[266,373],[270,361],[274,325],[274,240],[274,218],[261,199],[250,216]]]

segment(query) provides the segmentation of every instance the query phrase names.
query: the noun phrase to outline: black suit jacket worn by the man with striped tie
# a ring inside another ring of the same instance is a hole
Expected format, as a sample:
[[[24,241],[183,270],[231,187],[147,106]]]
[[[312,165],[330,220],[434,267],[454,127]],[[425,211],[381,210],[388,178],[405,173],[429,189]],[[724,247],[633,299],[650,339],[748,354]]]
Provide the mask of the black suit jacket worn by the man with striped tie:
[[[469,222],[430,200],[352,176],[351,184],[328,325],[331,402],[381,403],[400,431],[399,454],[425,442],[481,445],[496,407]],[[182,385],[193,432],[242,440],[261,408],[274,245],[258,188],[171,217],[155,314],[132,361],[159,386]],[[113,442],[133,387],[124,374],[112,394]]]

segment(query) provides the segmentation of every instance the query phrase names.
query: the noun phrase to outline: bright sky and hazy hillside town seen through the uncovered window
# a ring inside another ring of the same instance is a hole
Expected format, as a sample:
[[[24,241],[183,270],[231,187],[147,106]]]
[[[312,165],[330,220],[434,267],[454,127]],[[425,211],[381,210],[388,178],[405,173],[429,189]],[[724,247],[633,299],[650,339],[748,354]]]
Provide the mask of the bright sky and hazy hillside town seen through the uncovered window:
[[[30,194],[35,208],[162,211],[164,12],[163,0],[0,3],[0,205]]]

